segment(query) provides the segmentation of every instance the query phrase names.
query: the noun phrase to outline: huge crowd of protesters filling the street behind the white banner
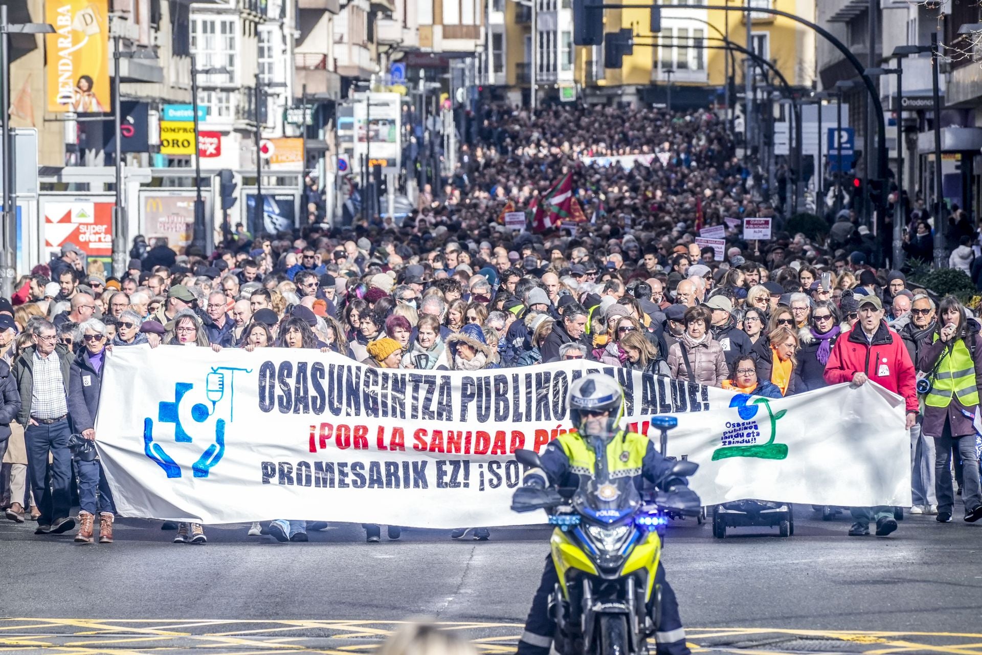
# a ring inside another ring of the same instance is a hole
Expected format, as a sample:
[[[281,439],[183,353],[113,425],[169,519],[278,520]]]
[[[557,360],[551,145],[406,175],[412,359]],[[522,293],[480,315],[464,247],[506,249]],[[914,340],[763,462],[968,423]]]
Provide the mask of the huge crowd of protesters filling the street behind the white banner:
[[[955,464],[965,520],[982,518],[971,419],[980,325],[957,300],[869,265],[854,214],[837,217],[827,242],[784,232],[710,111],[486,115],[442,199],[422,190],[401,226],[239,230],[209,254],[137,238],[120,277],[67,244],[19,280],[0,300],[7,518],[64,533],[77,502],[76,540],[112,541],[112,495],[98,460],[78,452],[96,438],[106,352],[142,344],[317,349],[402,369],[588,359],[770,398],[878,383],[906,401],[910,511],[952,520]],[[609,156],[632,165],[583,161]],[[506,203],[524,209],[568,173],[585,220],[543,232],[504,225]],[[773,239],[743,242],[741,217],[772,218]],[[726,228],[725,252],[695,244],[714,225]],[[917,378],[933,383],[920,397]],[[886,508],[852,514],[850,534],[868,534],[872,520],[877,534],[896,529]],[[207,541],[199,524],[176,527],[177,542]],[[305,541],[309,527],[277,520],[249,534]],[[380,539],[379,526],[365,530]],[[467,535],[489,532],[453,533]]]

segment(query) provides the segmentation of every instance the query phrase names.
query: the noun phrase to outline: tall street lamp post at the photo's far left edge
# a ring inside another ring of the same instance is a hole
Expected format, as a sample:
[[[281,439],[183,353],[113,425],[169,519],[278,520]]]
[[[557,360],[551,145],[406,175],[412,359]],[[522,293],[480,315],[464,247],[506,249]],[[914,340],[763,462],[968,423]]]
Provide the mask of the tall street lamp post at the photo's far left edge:
[[[13,130],[10,128],[10,44],[8,34],[51,34],[55,28],[47,23],[7,22],[7,4],[0,4],[0,72],[3,81],[0,82],[0,170],[3,179],[3,207],[0,214],[0,296],[10,298],[14,293],[14,277],[17,275],[17,261],[14,254],[16,232],[14,230],[14,162],[11,161],[14,148],[12,146]]]

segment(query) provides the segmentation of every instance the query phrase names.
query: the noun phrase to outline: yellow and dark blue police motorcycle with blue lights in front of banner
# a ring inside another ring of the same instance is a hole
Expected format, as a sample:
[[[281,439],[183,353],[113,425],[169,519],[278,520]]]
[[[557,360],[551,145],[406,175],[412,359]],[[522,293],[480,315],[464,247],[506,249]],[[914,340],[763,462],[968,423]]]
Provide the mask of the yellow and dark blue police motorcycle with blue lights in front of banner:
[[[674,416],[654,416],[662,431]],[[573,488],[519,487],[515,512],[545,509],[555,525],[550,539],[559,584],[549,599],[556,622],[553,643],[560,655],[647,653],[647,639],[661,620],[661,584],[655,582],[669,515],[697,516],[700,501],[673,480],[692,475],[698,464],[675,462],[645,502],[630,476],[614,477],[608,445],[614,435],[584,437],[596,457],[594,475]],[[664,451],[663,451],[664,452]],[[519,464],[541,465],[534,451],[517,450]],[[667,487],[667,488],[662,488]]]

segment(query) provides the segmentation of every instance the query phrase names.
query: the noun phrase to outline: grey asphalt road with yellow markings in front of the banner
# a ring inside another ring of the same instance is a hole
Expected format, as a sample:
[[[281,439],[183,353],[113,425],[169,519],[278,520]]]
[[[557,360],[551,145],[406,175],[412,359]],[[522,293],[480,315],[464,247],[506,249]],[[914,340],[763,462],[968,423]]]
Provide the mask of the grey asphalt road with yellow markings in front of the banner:
[[[982,653],[982,634],[972,634],[982,631],[982,523],[908,517],[890,537],[848,537],[847,518],[823,522],[801,507],[795,523],[787,539],[736,528],[718,540],[692,519],[671,526],[664,561],[693,644]],[[32,529],[0,520],[5,650],[166,642],[180,651],[210,639],[208,648],[231,651],[258,639],[257,649],[351,646],[340,653],[384,637],[391,622],[429,617],[483,639],[484,652],[508,652],[548,550],[544,528],[495,529],[488,542],[407,530],[367,545],[349,524],[311,532],[305,544],[209,526],[205,546],[170,543],[173,531],[136,519],[118,521],[112,545]],[[147,633],[163,635],[139,637]],[[106,635],[111,643],[89,645]]]

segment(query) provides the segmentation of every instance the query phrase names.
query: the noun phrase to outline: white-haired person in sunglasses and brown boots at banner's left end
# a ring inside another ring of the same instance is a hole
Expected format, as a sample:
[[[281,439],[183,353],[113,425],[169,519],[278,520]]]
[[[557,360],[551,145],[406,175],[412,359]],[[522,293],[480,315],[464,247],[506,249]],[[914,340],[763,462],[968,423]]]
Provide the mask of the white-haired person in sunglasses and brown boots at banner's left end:
[[[127,312],[133,313],[133,312]],[[106,326],[95,318],[82,323],[84,348],[72,362],[69,382],[68,407],[72,417],[72,427],[83,438],[95,440],[95,410],[99,407],[99,392],[102,388],[102,371],[106,363]],[[99,543],[113,542],[113,517],[116,507],[113,494],[106,481],[105,472],[98,458],[86,461],[76,459],[79,471],[79,531],[75,540],[79,543],[94,543],[95,518],[99,518]],[[98,500],[96,500],[98,490]]]

